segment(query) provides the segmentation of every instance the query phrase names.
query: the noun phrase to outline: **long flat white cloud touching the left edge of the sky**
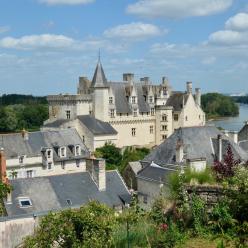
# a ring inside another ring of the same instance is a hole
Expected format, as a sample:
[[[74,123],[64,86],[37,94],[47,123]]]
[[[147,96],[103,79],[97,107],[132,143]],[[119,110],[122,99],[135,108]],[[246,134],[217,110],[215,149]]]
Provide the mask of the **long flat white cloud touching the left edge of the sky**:
[[[42,34],[29,35],[21,38],[5,37],[0,40],[0,47],[14,49],[37,49],[37,48],[66,48],[74,44],[72,38],[64,35]]]

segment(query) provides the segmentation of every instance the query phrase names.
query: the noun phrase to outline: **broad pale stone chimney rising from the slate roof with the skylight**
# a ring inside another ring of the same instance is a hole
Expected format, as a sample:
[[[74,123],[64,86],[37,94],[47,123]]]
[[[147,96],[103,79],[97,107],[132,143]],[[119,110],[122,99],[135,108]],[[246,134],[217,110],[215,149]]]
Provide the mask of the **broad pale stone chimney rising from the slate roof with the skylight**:
[[[102,158],[88,159],[86,169],[95,181],[99,191],[106,190],[105,160]]]

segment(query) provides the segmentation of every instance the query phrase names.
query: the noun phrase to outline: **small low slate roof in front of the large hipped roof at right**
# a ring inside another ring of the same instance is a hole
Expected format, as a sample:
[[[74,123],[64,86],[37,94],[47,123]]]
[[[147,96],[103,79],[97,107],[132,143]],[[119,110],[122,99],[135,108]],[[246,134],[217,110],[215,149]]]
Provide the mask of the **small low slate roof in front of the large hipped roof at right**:
[[[176,169],[149,165],[138,172],[137,178],[166,183],[169,175],[175,171]]]

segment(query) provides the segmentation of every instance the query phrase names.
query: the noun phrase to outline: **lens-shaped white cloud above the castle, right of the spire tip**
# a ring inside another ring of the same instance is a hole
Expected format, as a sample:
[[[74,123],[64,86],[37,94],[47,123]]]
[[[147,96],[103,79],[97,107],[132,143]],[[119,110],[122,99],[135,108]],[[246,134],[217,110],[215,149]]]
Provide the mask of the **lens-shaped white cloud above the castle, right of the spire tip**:
[[[160,28],[155,25],[133,22],[107,29],[104,32],[104,36],[108,38],[142,40],[161,35],[162,33],[165,33],[165,31],[160,30]]]

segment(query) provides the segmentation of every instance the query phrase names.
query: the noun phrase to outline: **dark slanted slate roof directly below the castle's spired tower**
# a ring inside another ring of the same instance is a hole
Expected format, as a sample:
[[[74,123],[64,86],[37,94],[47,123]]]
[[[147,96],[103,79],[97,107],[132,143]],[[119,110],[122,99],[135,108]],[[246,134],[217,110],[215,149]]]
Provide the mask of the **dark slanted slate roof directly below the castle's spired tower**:
[[[103,122],[101,120],[98,120],[91,115],[79,115],[77,118],[94,135],[117,134],[117,131],[108,122]]]

